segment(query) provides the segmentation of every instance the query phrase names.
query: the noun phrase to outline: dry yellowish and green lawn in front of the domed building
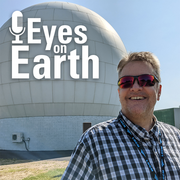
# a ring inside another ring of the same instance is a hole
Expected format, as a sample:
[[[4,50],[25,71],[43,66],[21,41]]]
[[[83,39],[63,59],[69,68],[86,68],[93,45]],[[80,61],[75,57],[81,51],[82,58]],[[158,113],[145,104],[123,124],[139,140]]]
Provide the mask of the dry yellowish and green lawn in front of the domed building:
[[[60,180],[68,161],[0,159],[0,180]]]

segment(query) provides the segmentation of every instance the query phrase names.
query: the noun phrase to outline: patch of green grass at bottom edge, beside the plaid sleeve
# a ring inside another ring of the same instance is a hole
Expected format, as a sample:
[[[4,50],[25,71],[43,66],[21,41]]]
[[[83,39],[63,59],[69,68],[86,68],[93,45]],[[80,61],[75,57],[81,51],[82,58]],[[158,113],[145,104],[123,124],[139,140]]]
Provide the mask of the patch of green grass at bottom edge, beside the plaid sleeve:
[[[53,169],[46,173],[41,173],[36,176],[29,176],[22,180],[60,180],[65,169]]]

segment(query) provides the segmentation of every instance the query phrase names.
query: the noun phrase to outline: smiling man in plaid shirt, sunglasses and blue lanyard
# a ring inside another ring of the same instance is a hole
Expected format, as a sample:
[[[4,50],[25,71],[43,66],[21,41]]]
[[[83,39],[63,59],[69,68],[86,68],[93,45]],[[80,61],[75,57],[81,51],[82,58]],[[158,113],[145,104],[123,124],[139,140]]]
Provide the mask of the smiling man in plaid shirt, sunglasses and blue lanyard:
[[[122,109],[82,135],[62,179],[180,179],[180,131],[153,115],[162,88],[158,59],[130,53],[117,69]]]

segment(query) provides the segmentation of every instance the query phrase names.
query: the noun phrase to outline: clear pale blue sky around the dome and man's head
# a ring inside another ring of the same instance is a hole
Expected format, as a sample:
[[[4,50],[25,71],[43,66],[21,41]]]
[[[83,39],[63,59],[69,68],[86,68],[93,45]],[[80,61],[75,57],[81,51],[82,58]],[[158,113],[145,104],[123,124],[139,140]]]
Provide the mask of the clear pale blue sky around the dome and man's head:
[[[55,1],[55,0],[53,0]],[[50,0],[0,0],[0,27],[16,10]],[[160,60],[162,94],[155,110],[180,107],[179,0],[64,0],[93,10],[121,37],[127,52],[150,51]]]

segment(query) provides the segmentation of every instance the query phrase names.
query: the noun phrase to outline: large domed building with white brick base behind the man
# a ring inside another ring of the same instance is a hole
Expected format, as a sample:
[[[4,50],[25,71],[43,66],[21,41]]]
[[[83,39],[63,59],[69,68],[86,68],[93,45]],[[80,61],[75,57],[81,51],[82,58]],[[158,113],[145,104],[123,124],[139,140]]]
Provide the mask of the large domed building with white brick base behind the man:
[[[24,151],[27,145],[29,151],[72,150],[88,127],[117,116],[116,67],[126,49],[112,26],[85,7],[46,2],[21,13],[22,44],[13,43],[16,36],[9,27],[16,29],[12,18],[0,29],[0,149]],[[30,23],[32,18],[37,21]],[[40,43],[30,43],[30,25],[33,39]],[[18,46],[26,47],[18,52],[23,61],[19,64],[12,55]],[[90,60],[83,72],[86,54]],[[63,62],[56,64],[55,59]],[[97,61],[98,78],[94,78]],[[43,68],[45,62],[49,66]],[[13,70],[29,76],[14,78]],[[38,79],[35,71],[42,78]]]

